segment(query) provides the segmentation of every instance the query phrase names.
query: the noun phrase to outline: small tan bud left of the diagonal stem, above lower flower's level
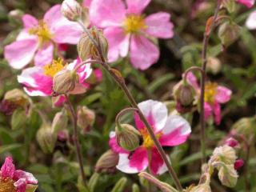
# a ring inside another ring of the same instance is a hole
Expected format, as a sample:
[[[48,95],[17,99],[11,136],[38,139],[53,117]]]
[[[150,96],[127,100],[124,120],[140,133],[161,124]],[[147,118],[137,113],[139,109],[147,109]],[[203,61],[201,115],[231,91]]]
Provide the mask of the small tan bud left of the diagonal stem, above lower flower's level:
[[[90,128],[95,122],[95,113],[86,106],[78,106],[78,127],[82,130]]]

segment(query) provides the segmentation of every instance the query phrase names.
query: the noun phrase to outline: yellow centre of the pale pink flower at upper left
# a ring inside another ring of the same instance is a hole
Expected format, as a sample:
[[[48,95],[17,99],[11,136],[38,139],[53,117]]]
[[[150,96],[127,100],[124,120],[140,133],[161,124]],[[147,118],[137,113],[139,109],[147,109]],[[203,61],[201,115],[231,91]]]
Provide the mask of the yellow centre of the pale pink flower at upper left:
[[[50,41],[50,39],[53,36],[50,33],[50,30],[46,25],[46,22],[43,22],[42,20],[38,22],[38,26],[30,28],[29,34],[38,35],[40,44]]]

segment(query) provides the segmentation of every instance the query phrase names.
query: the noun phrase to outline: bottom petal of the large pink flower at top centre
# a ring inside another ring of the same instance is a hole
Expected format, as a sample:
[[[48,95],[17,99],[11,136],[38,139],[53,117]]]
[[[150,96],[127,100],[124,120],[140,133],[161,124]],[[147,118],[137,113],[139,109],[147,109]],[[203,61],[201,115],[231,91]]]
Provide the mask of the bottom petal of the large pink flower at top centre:
[[[136,69],[146,70],[159,58],[158,47],[143,36],[132,36],[130,41],[130,62]]]

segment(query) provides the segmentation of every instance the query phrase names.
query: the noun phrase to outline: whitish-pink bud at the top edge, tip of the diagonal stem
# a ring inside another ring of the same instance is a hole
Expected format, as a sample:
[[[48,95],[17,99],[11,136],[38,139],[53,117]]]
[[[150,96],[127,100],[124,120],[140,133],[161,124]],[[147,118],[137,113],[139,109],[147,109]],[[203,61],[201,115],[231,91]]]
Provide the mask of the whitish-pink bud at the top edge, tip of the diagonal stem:
[[[61,8],[62,14],[71,22],[76,21],[82,15],[82,6],[75,0],[64,0]]]

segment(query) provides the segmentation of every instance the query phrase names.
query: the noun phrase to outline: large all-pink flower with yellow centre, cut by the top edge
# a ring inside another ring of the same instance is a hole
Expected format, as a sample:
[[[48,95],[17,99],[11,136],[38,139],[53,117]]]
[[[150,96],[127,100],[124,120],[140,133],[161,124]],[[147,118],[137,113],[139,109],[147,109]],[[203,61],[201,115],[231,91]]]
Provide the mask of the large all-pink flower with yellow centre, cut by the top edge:
[[[147,37],[172,38],[174,25],[170,14],[159,12],[144,18],[142,11],[150,0],[94,0],[90,5],[91,22],[104,29],[109,41],[109,62],[130,51],[130,62],[136,69],[146,70],[158,61],[159,50]]]

